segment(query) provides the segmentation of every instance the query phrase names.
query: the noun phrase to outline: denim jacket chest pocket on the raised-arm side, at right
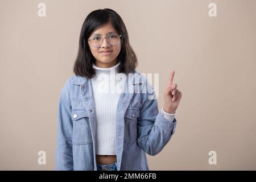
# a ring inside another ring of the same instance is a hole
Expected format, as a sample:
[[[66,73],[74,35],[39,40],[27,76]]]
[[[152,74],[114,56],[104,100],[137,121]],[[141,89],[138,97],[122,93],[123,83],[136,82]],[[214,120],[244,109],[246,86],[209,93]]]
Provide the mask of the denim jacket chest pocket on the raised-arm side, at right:
[[[139,109],[128,107],[125,113],[125,143],[134,143],[137,140],[137,118]]]

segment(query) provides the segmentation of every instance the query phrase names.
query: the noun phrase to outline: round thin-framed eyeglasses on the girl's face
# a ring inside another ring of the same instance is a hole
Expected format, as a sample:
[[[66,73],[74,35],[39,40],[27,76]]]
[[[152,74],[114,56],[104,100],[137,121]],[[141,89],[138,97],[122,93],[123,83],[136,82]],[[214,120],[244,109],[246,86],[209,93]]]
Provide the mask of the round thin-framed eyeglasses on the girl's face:
[[[108,36],[106,36],[106,39],[110,45],[115,46],[119,43],[121,36],[122,35],[118,34],[109,34]],[[104,38],[102,38],[101,36],[94,36],[93,38],[88,39],[88,41],[90,41],[90,44],[92,44],[93,47],[99,48],[103,44]]]

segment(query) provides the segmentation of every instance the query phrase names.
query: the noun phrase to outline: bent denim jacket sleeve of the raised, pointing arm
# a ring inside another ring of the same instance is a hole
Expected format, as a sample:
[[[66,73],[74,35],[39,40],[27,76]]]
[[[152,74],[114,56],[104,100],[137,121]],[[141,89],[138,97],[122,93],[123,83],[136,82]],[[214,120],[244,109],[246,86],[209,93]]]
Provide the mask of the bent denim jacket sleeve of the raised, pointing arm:
[[[154,156],[163,150],[174,134],[176,118],[170,122],[159,113],[154,89],[150,87],[150,94],[142,94],[142,107],[137,118],[137,144],[148,155]]]

